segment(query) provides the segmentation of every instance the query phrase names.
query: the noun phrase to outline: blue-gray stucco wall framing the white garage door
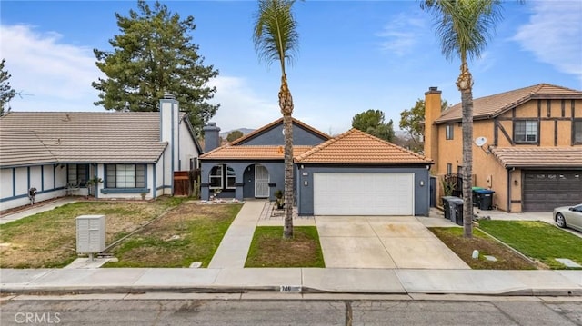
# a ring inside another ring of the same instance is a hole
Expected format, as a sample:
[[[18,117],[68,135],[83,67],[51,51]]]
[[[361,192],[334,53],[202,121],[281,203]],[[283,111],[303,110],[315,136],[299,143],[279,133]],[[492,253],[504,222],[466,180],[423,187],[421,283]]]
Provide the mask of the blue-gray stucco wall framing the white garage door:
[[[430,209],[430,173],[422,165],[327,165],[298,164],[296,166],[297,212],[299,215],[314,214],[314,173],[414,173],[414,214],[427,216]],[[420,184],[423,185],[420,185]]]

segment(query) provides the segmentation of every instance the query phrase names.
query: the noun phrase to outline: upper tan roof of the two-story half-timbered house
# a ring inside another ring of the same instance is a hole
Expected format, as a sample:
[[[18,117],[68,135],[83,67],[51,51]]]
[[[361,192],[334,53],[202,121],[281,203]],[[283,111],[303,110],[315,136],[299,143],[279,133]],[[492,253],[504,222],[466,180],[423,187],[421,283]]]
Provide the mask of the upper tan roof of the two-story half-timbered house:
[[[582,99],[582,91],[556,86],[536,84],[517,90],[480,97],[473,100],[473,118],[487,119],[505,113],[507,110],[533,99]],[[445,110],[435,123],[461,121],[461,104]]]

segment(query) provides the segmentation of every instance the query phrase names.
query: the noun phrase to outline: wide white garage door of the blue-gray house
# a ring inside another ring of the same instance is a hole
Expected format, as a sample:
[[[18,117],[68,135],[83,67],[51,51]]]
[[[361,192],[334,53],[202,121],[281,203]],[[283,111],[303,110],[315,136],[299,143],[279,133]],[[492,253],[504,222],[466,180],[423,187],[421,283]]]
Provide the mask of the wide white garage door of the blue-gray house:
[[[414,173],[314,173],[316,215],[414,215]]]

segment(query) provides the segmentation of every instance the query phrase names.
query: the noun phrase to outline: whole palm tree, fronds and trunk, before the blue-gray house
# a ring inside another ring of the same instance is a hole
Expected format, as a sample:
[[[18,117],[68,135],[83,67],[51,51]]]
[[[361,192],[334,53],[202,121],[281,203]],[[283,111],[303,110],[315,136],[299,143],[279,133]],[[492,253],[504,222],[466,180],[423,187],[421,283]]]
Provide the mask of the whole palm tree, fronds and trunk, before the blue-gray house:
[[[286,63],[291,64],[299,46],[297,22],[291,10],[295,0],[259,0],[253,33],[259,59],[281,64],[279,108],[285,133],[285,226],[286,239],[293,238],[293,97],[287,85]]]

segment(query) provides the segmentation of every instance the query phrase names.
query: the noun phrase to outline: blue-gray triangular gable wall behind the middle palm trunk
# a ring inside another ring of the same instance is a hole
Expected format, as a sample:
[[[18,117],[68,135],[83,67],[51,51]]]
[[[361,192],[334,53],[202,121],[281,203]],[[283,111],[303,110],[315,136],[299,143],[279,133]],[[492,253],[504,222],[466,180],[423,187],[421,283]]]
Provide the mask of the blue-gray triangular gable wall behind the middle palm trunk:
[[[315,146],[327,139],[312,133],[296,124],[293,125],[293,144],[298,146]],[[263,133],[256,135],[237,145],[284,145],[283,124],[278,124]]]

